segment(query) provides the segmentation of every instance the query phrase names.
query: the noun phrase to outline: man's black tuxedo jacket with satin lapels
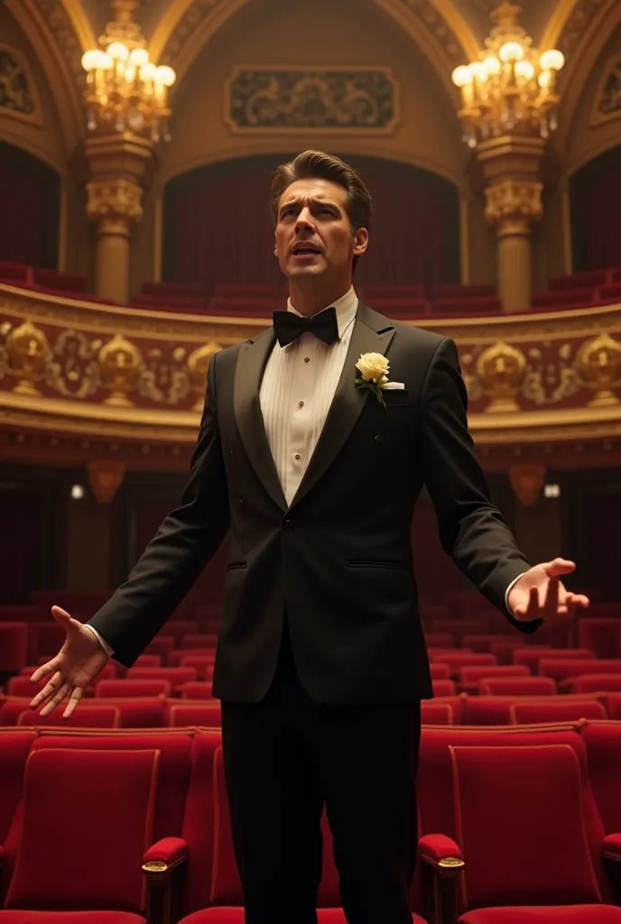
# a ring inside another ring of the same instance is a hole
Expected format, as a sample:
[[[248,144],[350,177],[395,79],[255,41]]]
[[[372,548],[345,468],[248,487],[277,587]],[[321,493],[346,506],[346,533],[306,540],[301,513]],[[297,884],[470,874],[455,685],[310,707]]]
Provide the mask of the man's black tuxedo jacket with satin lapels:
[[[466,422],[452,340],[391,322],[359,303],[335,399],[298,493],[286,504],[259,400],[274,330],[216,354],[180,505],[91,625],[130,665],[182,600],[230,528],[213,692],[267,692],[288,620],[300,679],[327,703],[432,696],[410,550],[424,484],[444,550],[506,613],[505,590],[529,568],[488,497]],[[383,353],[404,390],[386,407],[354,379],[361,353]]]

